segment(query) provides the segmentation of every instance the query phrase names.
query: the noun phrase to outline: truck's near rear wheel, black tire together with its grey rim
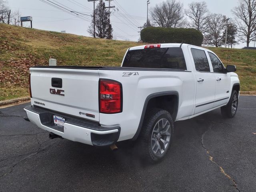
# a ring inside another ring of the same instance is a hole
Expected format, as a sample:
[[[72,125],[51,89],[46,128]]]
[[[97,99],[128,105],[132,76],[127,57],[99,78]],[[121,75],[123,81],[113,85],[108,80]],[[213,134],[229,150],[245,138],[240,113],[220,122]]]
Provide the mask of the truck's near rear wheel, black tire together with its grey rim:
[[[142,158],[148,162],[162,160],[170,149],[173,135],[174,124],[170,113],[156,108],[150,110],[146,114],[139,137],[139,150]]]

